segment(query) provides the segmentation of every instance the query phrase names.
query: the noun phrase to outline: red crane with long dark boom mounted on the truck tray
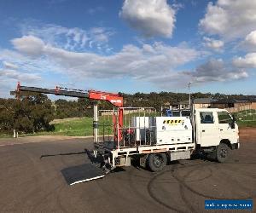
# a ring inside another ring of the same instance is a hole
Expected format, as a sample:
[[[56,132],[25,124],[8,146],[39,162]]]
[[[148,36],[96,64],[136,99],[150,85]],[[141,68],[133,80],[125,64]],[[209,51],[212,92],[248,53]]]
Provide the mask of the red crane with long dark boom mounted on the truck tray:
[[[96,90],[67,89],[67,88],[58,87],[58,86],[56,86],[55,89],[27,87],[27,86],[21,86],[20,82],[18,82],[15,94],[19,96],[21,91],[43,93],[43,94],[53,94],[53,95],[64,95],[64,96],[78,97],[78,98],[88,98],[90,100],[95,100],[95,101],[108,101],[114,107],[118,107],[118,122],[115,120],[116,118],[113,116],[114,132],[116,132],[115,130],[117,130],[117,128],[123,127],[123,108],[122,107],[124,107],[124,100],[123,100],[123,97],[119,94],[96,91]],[[13,93],[11,93],[11,94],[13,95]],[[118,124],[118,126],[117,126],[117,124]],[[97,135],[98,118],[97,118],[97,105],[96,104],[94,105],[93,128],[94,128],[94,134]],[[95,132],[95,130],[96,130],[96,132]],[[120,133],[119,133],[119,136],[117,136],[117,135],[115,136],[114,140],[115,141],[121,140]]]

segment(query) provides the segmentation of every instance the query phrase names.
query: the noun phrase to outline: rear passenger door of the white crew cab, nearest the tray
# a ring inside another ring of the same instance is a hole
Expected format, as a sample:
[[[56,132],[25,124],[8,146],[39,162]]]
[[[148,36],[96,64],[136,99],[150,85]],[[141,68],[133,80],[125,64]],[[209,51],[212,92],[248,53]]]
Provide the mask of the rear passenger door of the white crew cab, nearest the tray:
[[[216,112],[197,113],[197,143],[201,147],[217,146],[219,143],[218,119]]]

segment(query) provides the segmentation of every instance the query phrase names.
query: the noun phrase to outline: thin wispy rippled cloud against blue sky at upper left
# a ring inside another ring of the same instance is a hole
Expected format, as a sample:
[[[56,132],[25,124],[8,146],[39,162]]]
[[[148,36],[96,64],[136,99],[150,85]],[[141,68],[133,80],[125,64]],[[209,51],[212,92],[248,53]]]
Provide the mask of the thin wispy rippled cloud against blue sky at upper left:
[[[25,21],[21,26],[24,36],[38,37],[55,47],[67,50],[85,50],[101,47],[109,49],[108,41],[114,32],[106,27],[93,27],[83,30],[78,27],[67,28],[53,24],[44,24],[36,20]]]

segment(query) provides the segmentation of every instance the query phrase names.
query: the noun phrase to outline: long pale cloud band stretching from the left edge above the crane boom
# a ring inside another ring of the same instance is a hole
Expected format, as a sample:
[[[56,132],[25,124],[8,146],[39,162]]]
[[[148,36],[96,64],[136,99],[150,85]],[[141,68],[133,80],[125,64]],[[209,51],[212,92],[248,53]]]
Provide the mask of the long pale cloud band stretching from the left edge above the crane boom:
[[[26,53],[22,37],[17,39],[20,42],[15,43],[15,49],[21,49],[22,53]],[[40,40],[40,38],[37,38],[37,40]],[[33,44],[33,40],[31,41]],[[27,39],[24,42],[26,42],[27,46],[30,46]],[[44,42],[42,41],[42,43]],[[46,64],[46,67],[52,65],[50,69],[52,72],[60,72],[62,70],[63,73],[72,76],[72,78],[128,77],[147,81],[147,78],[154,78],[160,72],[169,74],[173,68],[195,60],[201,55],[200,52],[189,48],[184,43],[177,47],[163,43],[144,44],[141,48],[134,45],[126,45],[118,53],[112,55],[97,55],[88,52],[78,53],[49,44],[44,44],[43,48],[38,46],[38,51],[34,49],[33,52],[35,53],[34,57],[28,58],[15,52],[5,51],[4,54],[3,51],[0,51],[0,60],[15,61],[16,64],[19,64],[19,67],[26,67],[26,70],[31,71],[40,70],[39,66],[44,64]],[[38,55],[38,52],[41,55]],[[7,57],[6,55],[10,56]],[[23,59],[20,60],[20,57],[23,57]],[[26,64],[22,64],[21,61],[28,61],[32,65],[32,69]],[[48,61],[49,63],[47,63]],[[41,69],[43,72],[45,66],[42,66]]]

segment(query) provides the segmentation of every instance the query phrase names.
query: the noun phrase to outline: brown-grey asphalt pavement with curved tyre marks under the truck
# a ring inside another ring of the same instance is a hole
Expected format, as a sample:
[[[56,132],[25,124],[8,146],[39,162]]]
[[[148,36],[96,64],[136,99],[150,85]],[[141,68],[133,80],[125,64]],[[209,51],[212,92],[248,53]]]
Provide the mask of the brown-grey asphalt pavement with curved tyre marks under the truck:
[[[69,186],[61,170],[90,162],[91,139],[22,140],[0,141],[1,212],[204,212],[205,199],[253,199],[256,211],[256,141],[224,164],[181,160],[159,173],[131,166]]]

